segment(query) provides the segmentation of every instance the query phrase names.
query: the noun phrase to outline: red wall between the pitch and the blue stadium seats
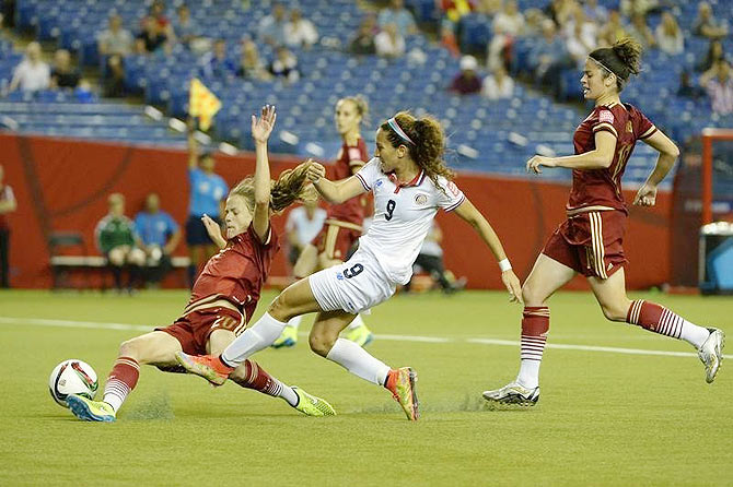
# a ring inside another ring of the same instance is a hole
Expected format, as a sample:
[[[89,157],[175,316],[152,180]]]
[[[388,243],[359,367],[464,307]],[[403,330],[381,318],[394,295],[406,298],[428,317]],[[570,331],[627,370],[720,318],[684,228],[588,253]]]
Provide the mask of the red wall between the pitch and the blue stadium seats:
[[[107,195],[121,192],[127,198],[127,214],[135,215],[147,193],[161,195],[162,207],[183,224],[187,216],[187,155],[181,150],[127,146],[113,143],[56,140],[40,136],[0,134],[0,164],[5,182],[12,186],[18,211],[10,214],[11,280],[14,287],[50,286],[50,231],[74,230],[83,235],[90,253],[97,254],[93,233],[107,212]],[[272,174],[292,167],[292,157],[272,157]],[[234,185],[254,170],[254,155],[218,156],[217,171]],[[540,178],[512,179],[461,174],[457,185],[488,217],[524,280],[546,238],[563,219],[568,197],[565,183]],[[627,192],[627,201],[633,194]],[[651,210],[631,207],[625,248],[630,266],[630,288],[647,288],[670,278],[668,193],[660,194]],[[275,217],[282,230],[284,216]],[[474,230],[455,215],[439,213],[443,229],[446,268],[465,275],[472,288],[501,288],[493,257]],[[176,254],[185,256],[182,243]],[[287,273],[283,252],[278,254],[271,274]],[[181,280],[168,280],[168,285]],[[571,288],[586,288],[581,278]]]

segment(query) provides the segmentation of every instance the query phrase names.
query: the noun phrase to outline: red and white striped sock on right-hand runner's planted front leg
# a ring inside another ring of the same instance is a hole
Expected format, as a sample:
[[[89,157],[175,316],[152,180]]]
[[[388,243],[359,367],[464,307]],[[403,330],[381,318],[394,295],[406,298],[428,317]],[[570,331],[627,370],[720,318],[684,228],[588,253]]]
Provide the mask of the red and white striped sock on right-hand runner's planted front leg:
[[[522,352],[516,381],[528,389],[539,385],[539,364],[549,331],[549,308],[525,306],[522,313]]]

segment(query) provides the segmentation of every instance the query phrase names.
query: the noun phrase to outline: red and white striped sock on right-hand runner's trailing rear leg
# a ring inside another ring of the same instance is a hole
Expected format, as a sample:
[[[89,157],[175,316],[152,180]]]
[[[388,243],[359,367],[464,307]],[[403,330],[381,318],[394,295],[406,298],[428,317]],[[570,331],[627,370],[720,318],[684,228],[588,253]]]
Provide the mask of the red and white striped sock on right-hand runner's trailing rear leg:
[[[631,301],[626,313],[626,322],[638,324],[650,332],[684,340],[698,349],[710,335],[708,329],[690,323],[665,307],[643,299]]]

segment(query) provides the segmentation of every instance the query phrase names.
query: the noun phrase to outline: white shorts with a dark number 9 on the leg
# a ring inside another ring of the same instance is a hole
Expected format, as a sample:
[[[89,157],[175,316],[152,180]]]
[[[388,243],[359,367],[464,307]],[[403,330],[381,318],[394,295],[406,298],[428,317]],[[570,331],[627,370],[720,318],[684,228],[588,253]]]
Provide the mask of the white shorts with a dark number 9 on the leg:
[[[321,309],[341,309],[353,314],[386,301],[396,287],[374,256],[363,250],[357,250],[342,264],[312,274],[309,284]]]

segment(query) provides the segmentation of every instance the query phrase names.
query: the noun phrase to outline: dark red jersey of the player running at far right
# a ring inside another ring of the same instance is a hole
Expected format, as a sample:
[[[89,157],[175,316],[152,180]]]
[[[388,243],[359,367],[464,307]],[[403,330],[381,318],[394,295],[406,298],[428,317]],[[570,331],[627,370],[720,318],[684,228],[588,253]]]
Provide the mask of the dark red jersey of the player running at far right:
[[[644,115],[629,104],[595,107],[591,115],[578,126],[572,142],[575,154],[595,149],[595,133],[605,130],[616,138],[616,149],[610,166],[605,169],[572,171],[572,190],[568,212],[585,207],[605,206],[628,214],[621,193],[621,176],[638,140],[656,132],[656,127]]]

